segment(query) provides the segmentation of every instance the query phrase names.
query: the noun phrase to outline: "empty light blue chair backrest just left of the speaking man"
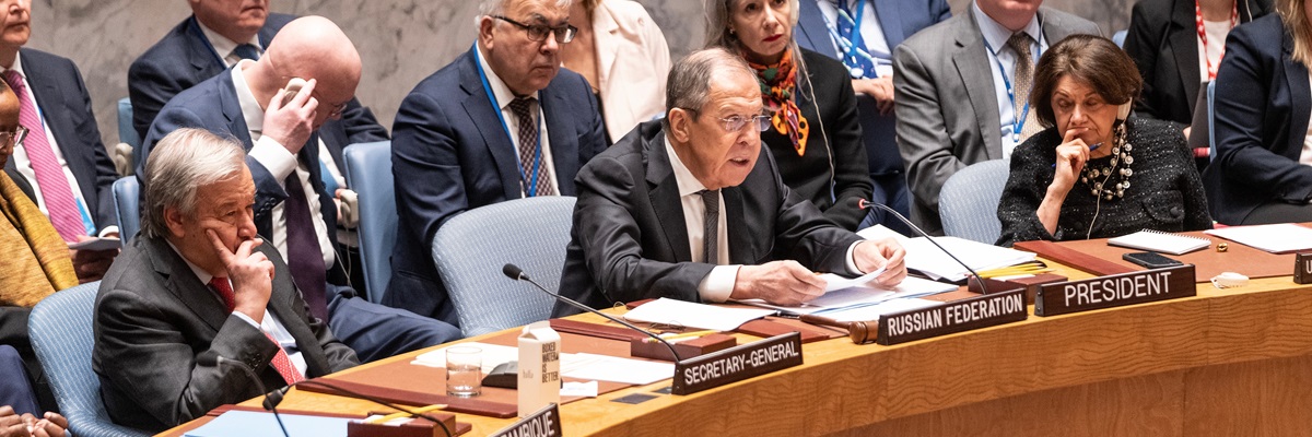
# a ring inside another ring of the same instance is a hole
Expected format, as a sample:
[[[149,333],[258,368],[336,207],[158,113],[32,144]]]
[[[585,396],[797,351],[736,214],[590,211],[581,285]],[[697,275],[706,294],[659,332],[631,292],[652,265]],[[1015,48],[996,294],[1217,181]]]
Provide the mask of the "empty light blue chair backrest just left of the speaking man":
[[[530,197],[464,211],[437,230],[433,260],[464,336],[546,320],[555,299],[501,273],[513,262],[552,290],[573,226],[573,197]]]

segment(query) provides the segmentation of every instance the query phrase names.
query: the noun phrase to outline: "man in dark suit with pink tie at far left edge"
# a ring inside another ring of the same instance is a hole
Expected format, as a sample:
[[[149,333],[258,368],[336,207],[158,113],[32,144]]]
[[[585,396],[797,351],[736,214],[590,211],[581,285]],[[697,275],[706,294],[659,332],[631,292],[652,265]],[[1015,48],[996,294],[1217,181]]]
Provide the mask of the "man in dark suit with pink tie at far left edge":
[[[91,97],[77,66],[66,58],[22,47],[31,35],[31,3],[0,3],[0,67],[18,96],[28,136],[13,150],[7,169],[33,186],[37,206],[68,243],[117,236],[112,185],[118,177],[100,140]],[[100,252],[102,262],[79,277],[96,280],[118,251]]]

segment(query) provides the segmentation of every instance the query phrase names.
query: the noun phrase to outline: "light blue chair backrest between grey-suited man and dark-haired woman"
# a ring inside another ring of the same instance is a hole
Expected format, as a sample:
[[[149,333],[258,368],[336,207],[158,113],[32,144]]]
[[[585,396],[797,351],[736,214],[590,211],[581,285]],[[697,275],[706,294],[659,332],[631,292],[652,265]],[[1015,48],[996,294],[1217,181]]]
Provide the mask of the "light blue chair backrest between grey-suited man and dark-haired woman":
[[[949,177],[938,193],[943,232],[985,244],[997,243],[1002,235],[997,202],[1010,171],[1010,161],[996,159],[972,164]]]

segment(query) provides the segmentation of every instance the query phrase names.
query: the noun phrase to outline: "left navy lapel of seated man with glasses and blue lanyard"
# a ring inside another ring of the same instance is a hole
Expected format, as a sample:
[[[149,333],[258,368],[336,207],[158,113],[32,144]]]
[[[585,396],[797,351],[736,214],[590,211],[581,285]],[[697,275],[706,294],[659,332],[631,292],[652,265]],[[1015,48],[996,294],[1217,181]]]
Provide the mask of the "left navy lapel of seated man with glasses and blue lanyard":
[[[496,163],[497,173],[501,175],[501,189],[505,198],[521,198],[523,193],[520,189],[520,163],[516,159],[520,152],[514,150],[514,143],[510,142],[501,118],[497,117],[500,109],[488,100],[488,93],[483,88],[483,80],[479,79],[479,66],[474,60],[478,56],[476,51],[478,47],[470,49],[458,60],[461,63],[461,89],[466,93],[461,105],[470,115],[470,123],[476,127],[482,126],[478,131],[483,136],[483,143],[487,144],[488,155],[492,155],[492,160]]]

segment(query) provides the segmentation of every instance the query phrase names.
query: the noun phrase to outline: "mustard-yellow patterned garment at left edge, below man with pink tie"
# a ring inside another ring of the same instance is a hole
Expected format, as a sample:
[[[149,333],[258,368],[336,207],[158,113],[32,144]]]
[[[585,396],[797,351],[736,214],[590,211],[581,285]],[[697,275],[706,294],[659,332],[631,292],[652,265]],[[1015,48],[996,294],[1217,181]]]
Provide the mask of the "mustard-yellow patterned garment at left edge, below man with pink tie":
[[[33,307],[77,285],[68,244],[8,175],[0,172],[0,304]]]

